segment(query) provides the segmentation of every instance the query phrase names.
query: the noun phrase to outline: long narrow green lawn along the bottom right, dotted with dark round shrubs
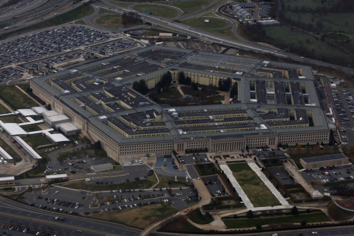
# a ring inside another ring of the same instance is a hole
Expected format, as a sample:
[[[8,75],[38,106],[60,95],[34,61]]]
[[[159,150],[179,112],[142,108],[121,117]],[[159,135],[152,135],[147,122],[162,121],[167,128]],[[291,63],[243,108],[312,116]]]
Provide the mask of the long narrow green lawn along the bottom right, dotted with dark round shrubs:
[[[330,221],[323,212],[315,212],[308,214],[289,215],[289,216],[265,216],[253,219],[225,219],[223,220],[227,229],[251,228],[256,225],[266,225],[271,223],[301,223],[305,220],[307,223]]]

